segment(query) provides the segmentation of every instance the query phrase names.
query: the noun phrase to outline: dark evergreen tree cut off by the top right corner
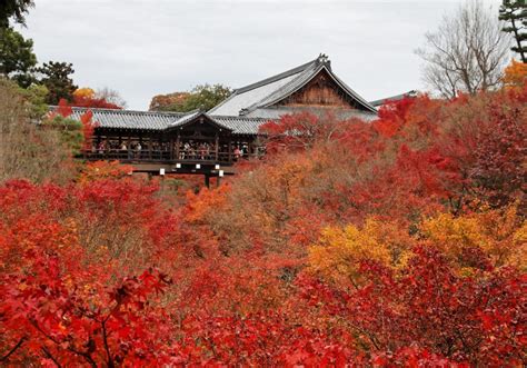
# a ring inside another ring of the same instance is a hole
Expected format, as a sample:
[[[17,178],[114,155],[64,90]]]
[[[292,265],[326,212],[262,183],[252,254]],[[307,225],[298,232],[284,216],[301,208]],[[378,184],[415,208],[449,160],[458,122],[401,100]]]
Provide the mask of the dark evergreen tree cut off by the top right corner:
[[[506,22],[504,32],[513,33],[516,46],[510,49],[519,53],[521,61],[527,62],[527,2],[525,0],[504,0],[499,8],[499,19]]]

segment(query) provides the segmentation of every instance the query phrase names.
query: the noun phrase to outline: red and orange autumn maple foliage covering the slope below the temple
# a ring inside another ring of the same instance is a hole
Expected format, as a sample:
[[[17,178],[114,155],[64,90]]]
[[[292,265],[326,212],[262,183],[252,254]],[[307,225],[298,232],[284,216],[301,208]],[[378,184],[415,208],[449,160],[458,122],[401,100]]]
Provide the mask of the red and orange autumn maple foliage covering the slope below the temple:
[[[9,181],[1,364],[523,367],[526,102],[285,117],[199,193],[118,162]]]

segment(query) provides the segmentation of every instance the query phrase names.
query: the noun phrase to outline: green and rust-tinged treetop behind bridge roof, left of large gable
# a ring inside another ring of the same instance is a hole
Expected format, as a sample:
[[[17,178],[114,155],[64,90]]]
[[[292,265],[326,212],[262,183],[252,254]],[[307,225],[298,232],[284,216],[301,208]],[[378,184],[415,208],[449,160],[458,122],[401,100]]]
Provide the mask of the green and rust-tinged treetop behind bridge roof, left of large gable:
[[[222,84],[200,84],[190,92],[155,96],[150,110],[187,112],[195,109],[210,110],[230,96],[232,90]]]

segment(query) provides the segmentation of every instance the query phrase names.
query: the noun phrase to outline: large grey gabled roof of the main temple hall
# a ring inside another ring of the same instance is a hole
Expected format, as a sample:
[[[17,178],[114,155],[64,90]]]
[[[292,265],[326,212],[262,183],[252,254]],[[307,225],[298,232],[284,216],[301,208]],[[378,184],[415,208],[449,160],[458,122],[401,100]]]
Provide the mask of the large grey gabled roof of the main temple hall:
[[[366,112],[376,113],[375,107],[349,88],[331,70],[327,56],[320,54],[315,60],[304,63],[282,73],[259,82],[239,88],[223,102],[209,112],[216,116],[246,116],[258,109],[271,107],[306,86],[318,73],[325,70],[335,83]],[[291,111],[289,111],[291,112]],[[251,116],[255,116],[253,113]]]

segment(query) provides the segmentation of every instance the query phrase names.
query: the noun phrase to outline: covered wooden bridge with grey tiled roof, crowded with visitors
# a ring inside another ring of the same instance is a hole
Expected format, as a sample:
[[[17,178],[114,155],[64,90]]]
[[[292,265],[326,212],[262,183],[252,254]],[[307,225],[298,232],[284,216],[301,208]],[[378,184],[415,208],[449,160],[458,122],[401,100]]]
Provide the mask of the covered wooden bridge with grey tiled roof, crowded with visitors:
[[[80,119],[88,109],[73,108]],[[137,172],[232,175],[232,165],[265,152],[259,127],[266,119],[216,117],[203,111],[159,112],[89,109],[96,129],[86,160],[119,160]]]

